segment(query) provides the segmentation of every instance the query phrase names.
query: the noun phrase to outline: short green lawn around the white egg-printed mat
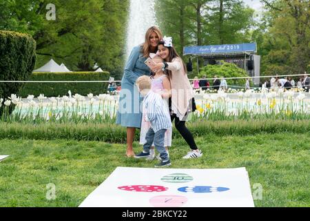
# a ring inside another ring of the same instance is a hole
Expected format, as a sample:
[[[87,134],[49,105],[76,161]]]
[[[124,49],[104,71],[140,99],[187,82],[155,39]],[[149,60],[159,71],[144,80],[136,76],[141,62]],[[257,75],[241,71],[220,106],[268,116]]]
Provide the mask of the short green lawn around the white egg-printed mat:
[[[310,206],[310,134],[196,137],[204,156],[182,160],[185,141],[173,140],[172,168],[245,166],[251,186],[262,184],[256,206]],[[135,144],[136,152],[141,147]],[[79,206],[116,166],[153,167],[127,159],[124,144],[75,140],[1,140],[0,206]],[[46,185],[56,185],[56,200],[46,200]],[[253,189],[252,189],[253,191]]]

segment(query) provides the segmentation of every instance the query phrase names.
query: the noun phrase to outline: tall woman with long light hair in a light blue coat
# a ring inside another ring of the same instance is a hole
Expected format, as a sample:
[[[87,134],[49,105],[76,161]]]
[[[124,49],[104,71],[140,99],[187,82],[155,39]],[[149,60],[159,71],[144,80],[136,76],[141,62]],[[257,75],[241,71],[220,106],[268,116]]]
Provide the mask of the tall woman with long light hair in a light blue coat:
[[[145,34],[145,43],[132,49],[127,60],[121,84],[121,93],[118,103],[116,124],[127,128],[127,157],[134,157],[132,143],[136,128],[141,128],[141,102],[142,97],[136,88],[136,79],[142,75],[149,75],[150,70],[145,65],[145,60],[150,53],[157,52],[159,39],[163,35],[161,30],[152,26]]]

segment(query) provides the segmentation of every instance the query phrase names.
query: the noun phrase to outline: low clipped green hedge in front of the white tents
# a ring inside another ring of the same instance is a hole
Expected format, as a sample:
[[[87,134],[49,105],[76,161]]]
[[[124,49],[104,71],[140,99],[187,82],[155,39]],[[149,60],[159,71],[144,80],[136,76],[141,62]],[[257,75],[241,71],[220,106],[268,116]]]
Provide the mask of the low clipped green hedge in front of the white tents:
[[[107,81],[110,73],[103,72],[70,72],[70,73],[33,73],[30,81]],[[92,93],[99,95],[106,93],[107,83],[26,83],[19,94],[21,97],[28,95],[39,96],[44,94],[47,97],[58,97],[68,95],[87,95]]]

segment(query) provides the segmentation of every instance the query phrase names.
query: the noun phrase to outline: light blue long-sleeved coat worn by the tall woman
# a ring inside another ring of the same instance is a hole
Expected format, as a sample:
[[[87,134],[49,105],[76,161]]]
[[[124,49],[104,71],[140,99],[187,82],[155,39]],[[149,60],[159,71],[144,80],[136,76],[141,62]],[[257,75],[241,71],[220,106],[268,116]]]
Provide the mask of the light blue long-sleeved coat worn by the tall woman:
[[[121,84],[121,93],[116,115],[116,124],[121,126],[141,128],[142,100],[136,87],[136,79],[142,75],[150,75],[151,71],[145,65],[141,46],[132,49],[125,66]]]

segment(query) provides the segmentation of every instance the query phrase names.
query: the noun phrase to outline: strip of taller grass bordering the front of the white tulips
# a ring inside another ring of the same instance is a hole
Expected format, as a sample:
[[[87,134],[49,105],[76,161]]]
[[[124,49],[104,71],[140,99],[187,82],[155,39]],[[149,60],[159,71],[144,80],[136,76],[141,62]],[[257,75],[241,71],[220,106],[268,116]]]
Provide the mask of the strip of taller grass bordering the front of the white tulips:
[[[218,122],[187,122],[187,127],[195,137],[214,133],[220,135],[254,135],[257,133],[307,133],[310,120],[235,120]],[[175,128],[174,128],[175,131]],[[136,130],[136,140],[139,139]],[[0,139],[30,140],[84,140],[110,143],[126,142],[126,128],[110,123],[85,124],[23,124],[0,122]],[[174,138],[180,138],[174,133]]]

